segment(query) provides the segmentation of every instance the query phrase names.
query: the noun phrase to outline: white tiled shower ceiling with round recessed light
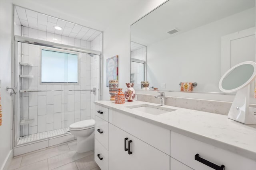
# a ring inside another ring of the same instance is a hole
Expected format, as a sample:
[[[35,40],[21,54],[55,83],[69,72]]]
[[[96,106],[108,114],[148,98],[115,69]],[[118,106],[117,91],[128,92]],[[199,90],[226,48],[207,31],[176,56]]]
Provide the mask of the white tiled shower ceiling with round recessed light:
[[[97,31],[95,29],[60,20],[58,18],[34,12],[20,6],[15,6],[15,10],[15,18],[18,18],[18,20],[15,20],[16,24],[24,27],[30,27],[58,35],[82,39],[85,41],[92,41],[100,33],[102,33],[101,31]],[[54,26],[62,27],[62,30],[57,30],[54,28]]]

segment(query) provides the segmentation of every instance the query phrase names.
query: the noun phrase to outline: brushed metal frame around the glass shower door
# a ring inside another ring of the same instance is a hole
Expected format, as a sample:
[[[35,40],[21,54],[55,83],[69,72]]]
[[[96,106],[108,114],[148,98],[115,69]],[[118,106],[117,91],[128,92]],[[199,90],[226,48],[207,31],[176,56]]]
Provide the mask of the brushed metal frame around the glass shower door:
[[[13,31],[12,31],[13,32]],[[14,35],[14,33],[13,33]],[[100,51],[96,50],[91,50],[91,49],[85,49],[81,47],[74,47],[70,45],[64,45],[64,44],[58,44],[58,43],[53,43],[50,41],[44,41],[40,39],[34,39],[34,38],[29,38],[29,37],[22,37],[19,35],[14,35],[14,52],[13,52],[13,57],[12,57],[12,80],[13,80],[13,86],[15,89],[18,88],[18,75],[17,74],[17,68],[18,68],[18,63],[17,63],[17,58],[18,58],[18,42],[20,43],[28,43],[28,44],[33,44],[33,45],[40,45],[44,47],[52,47],[56,49],[64,49],[64,50],[69,50],[69,51],[75,51],[75,52],[80,52],[80,53],[88,53],[92,55],[98,55],[99,57],[99,89],[98,89],[98,98],[101,100],[102,98],[102,53]],[[18,92],[20,93],[20,92]],[[12,149],[17,146],[17,129],[18,129],[18,95],[13,95],[13,113],[12,113]]]

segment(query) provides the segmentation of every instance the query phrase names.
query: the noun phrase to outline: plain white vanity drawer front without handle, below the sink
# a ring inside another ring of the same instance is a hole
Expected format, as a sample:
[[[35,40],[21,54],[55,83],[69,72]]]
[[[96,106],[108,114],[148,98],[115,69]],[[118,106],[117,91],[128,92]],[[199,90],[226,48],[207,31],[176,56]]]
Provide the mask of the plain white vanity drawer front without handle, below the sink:
[[[109,109],[109,123],[170,155],[170,130]]]

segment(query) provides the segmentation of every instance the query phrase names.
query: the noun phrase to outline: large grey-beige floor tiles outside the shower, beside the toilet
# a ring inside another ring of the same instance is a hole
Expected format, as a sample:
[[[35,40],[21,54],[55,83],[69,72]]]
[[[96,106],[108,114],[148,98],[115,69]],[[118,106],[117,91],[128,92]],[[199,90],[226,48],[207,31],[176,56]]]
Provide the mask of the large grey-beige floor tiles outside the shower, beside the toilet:
[[[94,151],[76,153],[76,140],[16,156],[8,170],[100,170]]]

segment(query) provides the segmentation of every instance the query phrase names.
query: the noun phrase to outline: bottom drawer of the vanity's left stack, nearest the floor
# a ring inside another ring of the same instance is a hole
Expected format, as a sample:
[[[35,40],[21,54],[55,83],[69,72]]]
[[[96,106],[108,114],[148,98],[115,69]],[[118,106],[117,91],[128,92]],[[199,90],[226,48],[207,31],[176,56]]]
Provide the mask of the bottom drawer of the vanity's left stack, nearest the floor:
[[[101,170],[108,170],[108,150],[97,139],[94,141],[94,160]]]

